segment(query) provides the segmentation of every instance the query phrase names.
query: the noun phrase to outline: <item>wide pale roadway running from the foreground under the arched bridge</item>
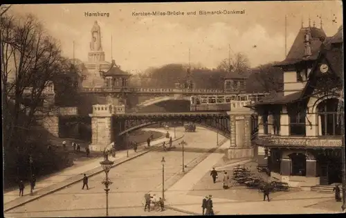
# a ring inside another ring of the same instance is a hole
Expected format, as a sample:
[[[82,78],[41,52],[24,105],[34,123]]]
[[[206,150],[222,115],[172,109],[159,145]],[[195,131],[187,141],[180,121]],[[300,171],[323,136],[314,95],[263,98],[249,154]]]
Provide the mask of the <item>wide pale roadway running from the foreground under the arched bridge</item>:
[[[183,134],[182,129],[176,129]],[[216,134],[198,129],[194,133],[186,133],[186,147],[210,149],[216,146]],[[208,136],[208,137],[206,137]],[[221,136],[219,136],[221,139]],[[185,152],[185,163],[189,165],[204,152]],[[161,159],[165,156],[165,181],[170,183],[174,176],[181,172],[181,152],[164,152],[158,149],[138,156],[117,167],[113,167],[109,177],[113,184],[109,192],[109,215],[154,215],[154,212],[144,212],[142,199],[145,193],[156,193],[161,196],[162,166]],[[96,163],[95,163],[96,164]],[[99,165],[99,163],[97,163]],[[82,178],[82,175],[80,175]],[[82,183],[75,183],[19,206],[6,213],[7,217],[91,217],[105,215],[105,193],[101,181],[104,173],[89,178],[89,190],[82,190]],[[173,179],[174,180],[174,179]],[[179,215],[179,212],[166,210],[161,215]]]

